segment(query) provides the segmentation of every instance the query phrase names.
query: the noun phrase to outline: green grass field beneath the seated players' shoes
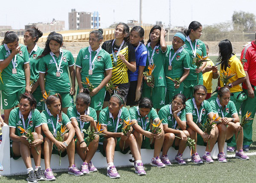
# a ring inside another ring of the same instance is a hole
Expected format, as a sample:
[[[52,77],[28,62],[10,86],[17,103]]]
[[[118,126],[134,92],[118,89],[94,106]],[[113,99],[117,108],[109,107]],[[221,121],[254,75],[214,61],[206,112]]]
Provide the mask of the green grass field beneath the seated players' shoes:
[[[210,59],[213,62],[217,56],[211,56]],[[213,90],[217,85],[217,80],[213,80]],[[256,129],[256,123],[254,120],[253,130]],[[113,180],[106,176],[106,169],[99,169],[98,172],[90,173],[90,175],[82,177],[74,177],[68,175],[67,172],[54,173],[57,180],[56,183],[71,183],[71,182],[85,182],[101,183],[101,182],[115,182],[115,183],[127,183],[127,182],[140,182],[140,183],[157,183],[157,182],[183,182],[183,183],[231,183],[231,182],[247,182],[253,183],[256,180],[256,133],[253,133],[253,144],[250,146],[250,160],[239,160],[232,158],[234,153],[228,153],[228,163],[219,163],[215,160],[211,164],[195,165],[192,162],[188,162],[186,165],[180,166],[177,163],[173,163],[172,166],[159,169],[145,165],[145,171],[147,175],[138,176],[134,173],[133,167],[120,167],[117,168],[121,178]],[[44,163],[44,162],[42,162]],[[103,161],[102,163],[106,163]],[[80,165],[79,165],[80,166]],[[14,183],[14,182],[26,182],[26,175],[0,177],[2,183]]]

